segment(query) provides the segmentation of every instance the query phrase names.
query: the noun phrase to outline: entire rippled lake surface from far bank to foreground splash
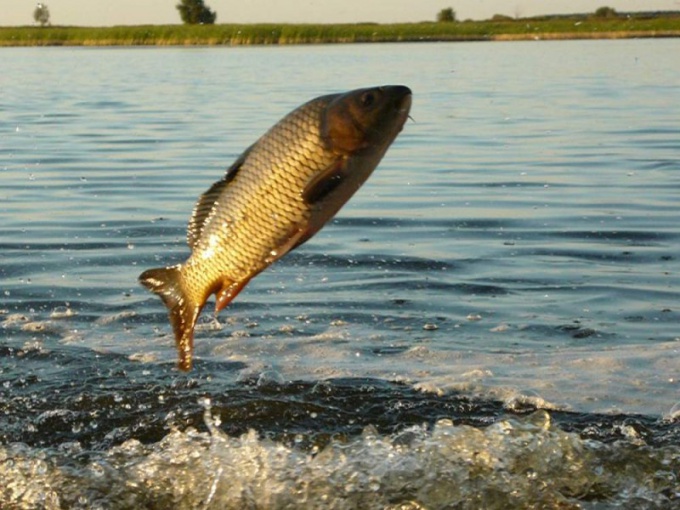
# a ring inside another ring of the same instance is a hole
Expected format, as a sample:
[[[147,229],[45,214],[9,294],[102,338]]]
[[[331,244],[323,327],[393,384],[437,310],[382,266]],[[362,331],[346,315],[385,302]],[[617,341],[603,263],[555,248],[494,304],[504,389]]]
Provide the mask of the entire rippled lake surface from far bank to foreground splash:
[[[0,507],[680,507],[678,54],[0,50]],[[280,117],[392,83],[380,167],[177,372],[138,274]]]

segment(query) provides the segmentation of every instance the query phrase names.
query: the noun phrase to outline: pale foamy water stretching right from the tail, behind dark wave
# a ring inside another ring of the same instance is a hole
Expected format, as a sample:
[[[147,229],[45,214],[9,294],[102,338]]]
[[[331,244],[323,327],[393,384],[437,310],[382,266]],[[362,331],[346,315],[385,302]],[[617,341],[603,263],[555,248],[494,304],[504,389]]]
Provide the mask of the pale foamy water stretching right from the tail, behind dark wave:
[[[202,338],[197,350],[251,364],[249,371],[274,366],[286,380],[376,377],[434,393],[496,398],[510,407],[532,400],[544,409],[663,416],[680,391],[677,341],[506,352],[423,342],[389,355],[367,354],[370,342],[346,325],[307,337]]]

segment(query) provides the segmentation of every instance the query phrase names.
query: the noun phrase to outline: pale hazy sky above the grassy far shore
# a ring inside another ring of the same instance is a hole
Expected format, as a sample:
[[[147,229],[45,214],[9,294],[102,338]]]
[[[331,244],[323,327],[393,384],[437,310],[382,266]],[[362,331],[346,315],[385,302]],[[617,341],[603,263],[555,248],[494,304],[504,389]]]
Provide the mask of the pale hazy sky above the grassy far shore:
[[[180,23],[178,0],[41,0],[53,25]],[[205,0],[217,23],[378,23],[432,21],[446,7],[459,20],[594,12],[680,11],[680,0]],[[0,0],[0,26],[33,24],[35,0]]]

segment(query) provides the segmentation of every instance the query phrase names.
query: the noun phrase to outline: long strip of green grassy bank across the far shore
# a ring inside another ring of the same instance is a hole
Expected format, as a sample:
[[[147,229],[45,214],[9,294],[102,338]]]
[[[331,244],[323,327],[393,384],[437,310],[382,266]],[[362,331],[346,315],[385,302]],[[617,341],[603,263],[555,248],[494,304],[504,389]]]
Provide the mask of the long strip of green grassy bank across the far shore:
[[[252,45],[680,37],[680,13],[453,23],[0,27],[0,46]]]

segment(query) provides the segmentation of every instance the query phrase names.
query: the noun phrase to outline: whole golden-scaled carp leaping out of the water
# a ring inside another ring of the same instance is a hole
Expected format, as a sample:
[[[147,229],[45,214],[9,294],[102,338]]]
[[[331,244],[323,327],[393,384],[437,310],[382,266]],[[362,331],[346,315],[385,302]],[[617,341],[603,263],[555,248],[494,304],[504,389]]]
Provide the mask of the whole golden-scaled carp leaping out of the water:
[[[313,99],[286,115],[198,199],[190,257],[139,281],[168,308],[190,370],[194,326],[208,298],[215,313],[273,262],[316,234],[359,189],[401,131],[411,90],[401,85]]]

